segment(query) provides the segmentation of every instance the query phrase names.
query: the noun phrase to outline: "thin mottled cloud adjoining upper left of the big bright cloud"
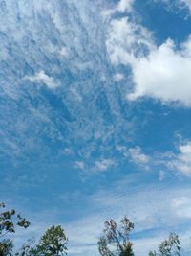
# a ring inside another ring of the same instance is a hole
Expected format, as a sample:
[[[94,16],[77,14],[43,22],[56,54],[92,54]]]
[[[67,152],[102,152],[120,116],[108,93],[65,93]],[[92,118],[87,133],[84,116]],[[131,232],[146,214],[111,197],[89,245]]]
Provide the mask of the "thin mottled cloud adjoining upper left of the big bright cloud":
[[[113,19],[106,45],[113,64],[129,65],[152,48],[151,33],[128,17]]]

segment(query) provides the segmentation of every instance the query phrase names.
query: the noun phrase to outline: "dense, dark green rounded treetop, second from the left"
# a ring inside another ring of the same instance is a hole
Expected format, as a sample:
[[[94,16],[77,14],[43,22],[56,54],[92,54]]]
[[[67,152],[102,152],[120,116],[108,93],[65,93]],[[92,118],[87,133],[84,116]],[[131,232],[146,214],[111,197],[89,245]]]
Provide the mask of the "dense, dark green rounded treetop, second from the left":
[[[67,254],[67,244],[68,238],[64,233],[64,229],[60,225],[53,225],[41,237],[33,254],[39,256],[61,256]]]

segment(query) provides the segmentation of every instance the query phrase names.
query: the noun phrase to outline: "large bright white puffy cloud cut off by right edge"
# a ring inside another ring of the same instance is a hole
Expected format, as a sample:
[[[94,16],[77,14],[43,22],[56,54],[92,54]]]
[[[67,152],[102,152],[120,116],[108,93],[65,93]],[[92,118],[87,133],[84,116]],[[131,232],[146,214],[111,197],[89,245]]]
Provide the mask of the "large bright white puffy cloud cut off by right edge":
[[[191,106],[191,37],[176,50],[172,40],[132,64],[134,91],[129,100],[152,97]]]

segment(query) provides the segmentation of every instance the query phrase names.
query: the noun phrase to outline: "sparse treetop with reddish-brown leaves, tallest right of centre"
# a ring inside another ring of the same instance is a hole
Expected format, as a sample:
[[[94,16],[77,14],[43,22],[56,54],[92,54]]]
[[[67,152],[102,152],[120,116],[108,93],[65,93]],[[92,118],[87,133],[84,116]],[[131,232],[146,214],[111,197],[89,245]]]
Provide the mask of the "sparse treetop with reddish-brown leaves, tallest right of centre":
[[[129,235],[133,229],[134,223],[126,216],[120,221],[119,227],[114,220],[105,221],[103,235],[98,241],[99,253],[102,256],[134,256],[133,244],[129,241]]]

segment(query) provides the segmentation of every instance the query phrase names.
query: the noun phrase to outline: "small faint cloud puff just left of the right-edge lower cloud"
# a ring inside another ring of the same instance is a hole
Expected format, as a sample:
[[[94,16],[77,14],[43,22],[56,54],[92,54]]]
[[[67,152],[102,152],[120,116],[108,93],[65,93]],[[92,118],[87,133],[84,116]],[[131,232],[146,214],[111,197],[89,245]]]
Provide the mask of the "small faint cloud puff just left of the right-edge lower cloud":
[[[150,157],[144,154],[140,147],[131,148],[128,151],[128,155],[130,156],[131,160],[139,165],[145,165],[150,162]]]

